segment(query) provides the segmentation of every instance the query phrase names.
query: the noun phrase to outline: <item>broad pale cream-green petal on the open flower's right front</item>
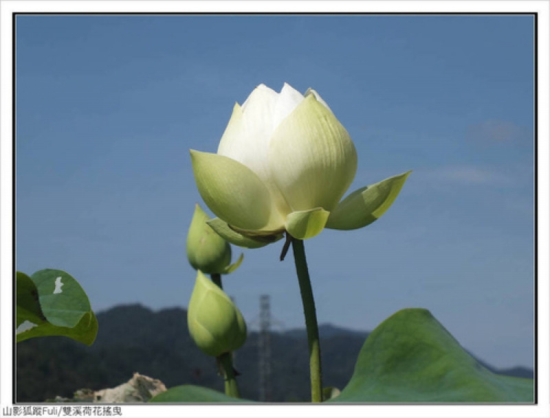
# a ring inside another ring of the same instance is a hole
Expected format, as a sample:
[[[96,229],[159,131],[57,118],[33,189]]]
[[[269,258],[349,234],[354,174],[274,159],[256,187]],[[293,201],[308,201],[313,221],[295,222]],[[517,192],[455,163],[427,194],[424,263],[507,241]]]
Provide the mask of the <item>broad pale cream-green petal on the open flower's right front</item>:
[[[309,95],[273,133],[270,168],[293,211],[331,211],[353,181],[357,153],[338,119]]]

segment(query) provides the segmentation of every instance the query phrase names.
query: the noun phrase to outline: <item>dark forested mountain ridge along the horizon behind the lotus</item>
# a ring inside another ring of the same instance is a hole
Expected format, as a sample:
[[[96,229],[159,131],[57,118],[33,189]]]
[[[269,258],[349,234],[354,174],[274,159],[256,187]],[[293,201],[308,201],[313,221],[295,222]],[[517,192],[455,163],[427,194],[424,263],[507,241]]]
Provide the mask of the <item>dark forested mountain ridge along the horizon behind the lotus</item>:
[[[18,402],[43,402],[56,395],[72,397],[80,388],[118,386],[134,372],[162,380],[168,388],[199,384],[223,391],[214,359],[205,356],[188,334],[186,310],[153,312],[142,305],[121,305],[99,312],[97,318],[98,337],[91,347],[64,337],[34,338],[17,344]],[[347,384],[367,335],[330,324],[320,326],[325,386],[342,388]],[[257,332],[250,332],[245,345],[235,353],[241,395],[253,400],[259,399],[258,337]],[[305,329],[273,332],[270,346],[270,400],[307,401]],[[532,370],[522,367],[499,373],[533,377]]]

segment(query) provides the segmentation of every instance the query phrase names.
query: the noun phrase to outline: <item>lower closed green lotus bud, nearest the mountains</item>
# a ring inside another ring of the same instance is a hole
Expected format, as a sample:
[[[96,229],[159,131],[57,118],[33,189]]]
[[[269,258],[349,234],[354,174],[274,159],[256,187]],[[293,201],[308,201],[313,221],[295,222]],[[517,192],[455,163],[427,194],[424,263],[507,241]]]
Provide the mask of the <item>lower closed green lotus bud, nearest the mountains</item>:
[[[201,270],[187,312],[189,334],[208,356],[234,351],[246,340],[243,315],[233,301]]]

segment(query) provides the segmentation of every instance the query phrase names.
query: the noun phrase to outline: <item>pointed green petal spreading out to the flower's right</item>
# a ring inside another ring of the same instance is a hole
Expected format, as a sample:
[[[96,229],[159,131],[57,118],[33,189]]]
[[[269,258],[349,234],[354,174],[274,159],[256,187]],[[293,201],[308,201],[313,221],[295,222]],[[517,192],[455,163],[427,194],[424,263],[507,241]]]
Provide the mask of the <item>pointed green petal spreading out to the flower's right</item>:
[[[331,211],[325,228],[351,230],[371,224],[392,205],[410,173],[408,171],[353,191]]]

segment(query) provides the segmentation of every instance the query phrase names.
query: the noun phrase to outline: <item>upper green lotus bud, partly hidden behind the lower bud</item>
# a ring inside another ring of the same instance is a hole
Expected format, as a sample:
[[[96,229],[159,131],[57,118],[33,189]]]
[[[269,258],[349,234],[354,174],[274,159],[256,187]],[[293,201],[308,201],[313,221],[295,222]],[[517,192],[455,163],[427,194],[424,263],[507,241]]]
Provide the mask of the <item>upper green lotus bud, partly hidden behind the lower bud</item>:
[[[206,224],[208,215],[195,205],[195,213],[187,235],[187,259],[195,270],[212,274],[228,274],[235,270],[242,261],[239,258],[234,265],[231,262],[231,247],[212,228]]]

